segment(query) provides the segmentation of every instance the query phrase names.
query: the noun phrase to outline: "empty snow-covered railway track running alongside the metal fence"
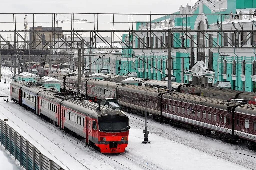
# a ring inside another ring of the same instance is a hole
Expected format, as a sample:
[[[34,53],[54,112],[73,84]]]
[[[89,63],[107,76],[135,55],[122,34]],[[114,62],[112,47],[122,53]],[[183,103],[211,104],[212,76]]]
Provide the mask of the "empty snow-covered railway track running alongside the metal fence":
[[[3,108],[4,106],[2,104],[0,104]],[[7,110],[7,109],[6,109]],[[16,116],[19,120],[21,120],[22,122],[26,123],[28,126],[30,126],[31,128],[33,128],[34,130],[36,130],[38,133],[40,133],[42,136],[44,136],[46,139],[48,139],[49,141],[51,141],[55,146],[57,146],[58,148],[60,148],[63,152],[67,153],[70,157],[72,157],[74,160],[76,160],[79,164],[81,164],[84,168],[89,169],[86,165],[84,165],[83,163],[81,163],[78,159],[76,159],[75,157],[73,157],[71,154],[69,154],[67,151],[65,151],[64,149],[62,149],[59,145],[57,145],[56,143],[54,143],[51,139],[49,139],[42,131],[35,129],[34,127],[32,127],[28,122],[24,121],[23,119],[19,118],[15,113],[13,113],[12,111],[8,111],[9,113],[12,113],[14,116]],[[9,121],[11,121],[12,119],[10,119],[6,114],[4,114],[2,111],[0,111],[0,113],[2,113],[6,118],[9,119]],[[13,121],[12,121],[13,122]],[[13,122],[16,126],[18,126],[20,129],[23,129],[22,127],[20,127],[19,125],[17,125],[15,122]],[[23,130],[24,131],[24,130]],[[26,131],[24,131],[29,137],[33,138],[29,133],[27,133]],[[33,138],[34,139],[34,138]],[[35,140],[35,139],[34,139]],[[36,140],[35,140],[36,141]],[[38,142],[37,142],[38,143]],[[40,143],[38,143],[39,145],[41,145]],[[42,146],[42,145],[41,145]],[[44,146],[42,146],[45,150],[48,151],[48,149],[46,149]],[[51,154],[52,156],[54,156],[58,161],[63,162],[63,160],[58,159],[54,154]],[[68,169],[72,170],[72,168],[69,168],[67,165],[65,165]]]

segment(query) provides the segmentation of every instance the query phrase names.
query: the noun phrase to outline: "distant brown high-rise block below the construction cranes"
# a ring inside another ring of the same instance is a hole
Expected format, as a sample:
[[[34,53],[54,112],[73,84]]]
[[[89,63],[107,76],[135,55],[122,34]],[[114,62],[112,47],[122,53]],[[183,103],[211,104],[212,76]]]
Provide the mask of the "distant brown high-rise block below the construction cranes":
[[[55,30],[55,33],[49,32]],[[49,48],[49,45],[52,45],[52,42],[55,42],[55,39],[63,37],[62,27],[30,27],[29,28],[29,42],[34,48]],[[40,31],[40,32],[35,32]],[[60,32],[58,32],[60,31]]]

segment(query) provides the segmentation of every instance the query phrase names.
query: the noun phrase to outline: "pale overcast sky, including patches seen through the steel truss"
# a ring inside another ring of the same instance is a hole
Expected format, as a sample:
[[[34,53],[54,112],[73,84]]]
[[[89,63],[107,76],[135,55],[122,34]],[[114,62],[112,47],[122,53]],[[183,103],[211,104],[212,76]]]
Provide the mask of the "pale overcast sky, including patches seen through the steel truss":
[[[189,0],[11,0],[1,1],[0,13],[125,13],[125,14],[171,14],[179,10],[180,5],[186,6]],[[191,2],[193,6],[196,1]],[[16,29],[23,30],[25,15],[16,15]],[[159,18],[162,16],[152,16],[151,19]],[[28,29],[33,27],[33,15],[28,15]],[[70,19],[71,15],[58,15],[59,20]],[[87,22],[93,22],[93,15],[91,16],[75,16],[76,19],[87,19]],[[125,19],[124,19],[125,18]],[[149,18],[148,18],[149,19]],[[146,21],[146,16],[134,16],[135,21]],[[52,15],[36,16],[38,25],[52,26]],[[99,16],[99,21],[105,22],[99,23],[99,30],[110,29],[110,15]],[[115,16],[116,29],[128,29],[128,15]],[[13,15],[0,15],[0,29],[1,30],[13,30]],[[126,22],[126,23],[125,23]],[[93,23],[75,23],[75,28],[81,29],[93,29]],[[135,23],[134,23],[135,25]],[[70,23],[59,23],[59,27],[63,27],[63,30],[70,30]],[[112,27],[113,28],[113,27]]]

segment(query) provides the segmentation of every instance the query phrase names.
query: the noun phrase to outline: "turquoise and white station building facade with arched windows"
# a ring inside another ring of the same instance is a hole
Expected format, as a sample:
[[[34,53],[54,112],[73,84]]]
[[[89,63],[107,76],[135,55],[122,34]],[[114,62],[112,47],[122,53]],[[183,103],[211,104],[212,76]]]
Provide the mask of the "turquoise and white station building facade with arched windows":
[[[250,31],[256,30],[256,17],[251,15],[256,14],[256,0],[199,0],[193,7],[188,4],[177,7],[172,14],[151,22],[138,21],[136,29],[171,30],[173,81],[204,86],[230,81],[232,89],[256,91],[256,34]],[[247,31],[236,33],[236,29]],[[185,34],[177,30],[201,32]],[[134,47],[161,48],[123,49],[120,59],[115,61],[119,68],[116,72],[137,72],[140,78],[157,80],[166,76],[165,31],[154,34],[138,31],[136,37],[123,34],[122,38],[120,45],[124,48],[127,42]]]

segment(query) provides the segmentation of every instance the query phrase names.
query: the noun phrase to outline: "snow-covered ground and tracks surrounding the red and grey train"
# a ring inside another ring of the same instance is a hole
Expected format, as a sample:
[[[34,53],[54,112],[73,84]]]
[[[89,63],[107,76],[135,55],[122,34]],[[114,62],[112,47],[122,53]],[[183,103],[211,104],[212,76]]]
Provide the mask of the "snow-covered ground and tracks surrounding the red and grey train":
[[[9,96],[9,76],[6,76],[7,83],[4,84],[3,77],[0,83],[0,96]],[[126,151],[102,154],[3,99],[6,97],[0,98],[0,118],[8,118],[10,126],[65,169],[256,169],[255,158],[251,157],[256,157],[254,151],[151,119],[148,120],[151,144],[142,144],[144,118],[134,114],[127,114],[132,128]]]

